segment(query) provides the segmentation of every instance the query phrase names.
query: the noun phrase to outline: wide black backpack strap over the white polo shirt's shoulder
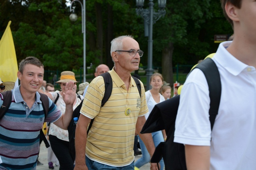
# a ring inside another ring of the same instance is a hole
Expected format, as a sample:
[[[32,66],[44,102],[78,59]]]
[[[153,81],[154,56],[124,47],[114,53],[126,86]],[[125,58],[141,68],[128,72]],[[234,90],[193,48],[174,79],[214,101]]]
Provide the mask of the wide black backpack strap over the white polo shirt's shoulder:
[[[219,70],[211,58],[205,58],[195,68],[202,70],[209,86],[209,115],[212,129],[215,118],[218,114],[219,103],[221,101],[221,78],[219,75]]]

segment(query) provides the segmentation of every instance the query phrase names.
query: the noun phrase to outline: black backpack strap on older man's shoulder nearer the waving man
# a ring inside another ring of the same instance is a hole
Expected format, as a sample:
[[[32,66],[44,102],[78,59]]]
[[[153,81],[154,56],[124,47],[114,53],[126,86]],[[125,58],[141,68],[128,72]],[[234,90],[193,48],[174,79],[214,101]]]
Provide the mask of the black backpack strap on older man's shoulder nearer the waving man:
[[[113,87],[113,84],[112,84],[112,78],[111,78],[111,75],[109,72],[105,72],[103,74],[100,74],[100,76],[103,77],[104,79],[104,82],[105,82],[105,94],[102,98],[102,101],[101,101],[101,107],[109,100],[110,96],[111,96],[111,93],[112,93],[112,87]],[[91,126],[93,125],[93,121],[94,119],[91,119],[91,122],[89,124],[89,127],[87,129],[87,135],[91,129]]]

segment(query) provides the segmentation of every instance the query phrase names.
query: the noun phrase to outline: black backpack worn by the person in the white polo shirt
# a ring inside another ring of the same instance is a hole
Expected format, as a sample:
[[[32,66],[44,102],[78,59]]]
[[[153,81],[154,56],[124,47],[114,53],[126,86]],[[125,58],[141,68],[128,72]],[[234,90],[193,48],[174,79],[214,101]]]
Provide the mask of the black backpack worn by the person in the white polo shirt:
[[[209,119],[211,130],[218,114],[221,99],[221,79],[216,64],[211,58],[206,58],[195,68],[199,68],[205,75],[209,86],[210,109]],[[163,157],[166,170],[186,170],[185,147],[181,143],[173,142],[175,119],[179,107],[180,95],[156,104],[146,120],[141,133],[152,133],[166,130],[167,139],[155,149],[151,158],[152,163],[158,163]]]

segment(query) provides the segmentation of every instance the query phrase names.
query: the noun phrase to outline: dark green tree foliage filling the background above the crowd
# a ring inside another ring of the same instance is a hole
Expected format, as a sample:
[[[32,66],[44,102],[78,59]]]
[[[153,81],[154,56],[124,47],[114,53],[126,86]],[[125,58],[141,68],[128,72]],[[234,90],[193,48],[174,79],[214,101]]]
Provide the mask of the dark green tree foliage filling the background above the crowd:
[[[74,2],[72,6],[78,16],[75,22],[69,20],[66,0],[0,0],[0,36],[11,20],[18,62],[35,56],[46,69],[79,69],[83,66],[81,5]],[[165,9],[165,17],[153,25],[153,66],[163,67],[165,80],[172,83],[172,66],[194,65],[215,52],[214,35],[231,35],[232,28],[219,0],[167,0]],[[110,42],[128,34],[139,42],[144,51],[141,64],[146,66],[148,37],[144,36],[144,19],[136,14],[136,1],[86,0],[87,66],[105,63],[112,67]]]

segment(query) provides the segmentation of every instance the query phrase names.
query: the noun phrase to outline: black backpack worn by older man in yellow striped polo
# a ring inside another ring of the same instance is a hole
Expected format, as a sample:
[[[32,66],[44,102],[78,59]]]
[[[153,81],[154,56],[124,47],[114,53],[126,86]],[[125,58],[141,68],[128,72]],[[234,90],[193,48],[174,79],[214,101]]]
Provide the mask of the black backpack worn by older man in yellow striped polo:
[[[104,83],[105,83],[105,93],[104,93],[104,96],[102,98],[102,101],[101,101],[101,107],[104,106],[104,104],[109,100],[110,96],[111,96],[111,93],[112,93],[112,78],[111,78],[111,75],[109,72],[105,72],[103,74],[100,74],[99,76],[102,76],[103,79],[104,79]],[[136,77],[133,77],[132,78],[134,79],[136,85],[137,85],[137,88],[138,88],[138,91],[139,91],[139,94],[140,94],[140,97],[141,97],[141,84],[140,84],[140,81],[139,79],[137,79]],[[76,128],[76,123],[74,123],[74,119],[73,118],[79,118],[80,116],[80,110],[81,110],[81,107],[83,105],[83,101],[84,99],[81,101],[81,103],[74,109],[74,112],[73,112],[73,117],[69,123],[69,126],[68,126],[68,132],[69,132],[69,152],[71,153],[71,155],[75,158],[75,128]],[[91,128],[91,126],[93,125],[93,121],[94,119],[91,119],[90,121],[90,124],[89,124],[89,127],[87,129],[87,135],[89,133],[89,130]]]

